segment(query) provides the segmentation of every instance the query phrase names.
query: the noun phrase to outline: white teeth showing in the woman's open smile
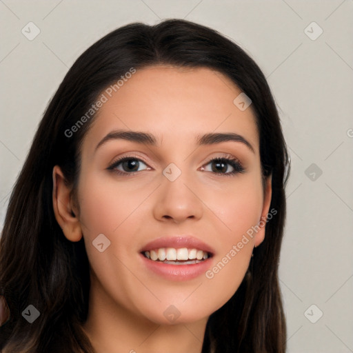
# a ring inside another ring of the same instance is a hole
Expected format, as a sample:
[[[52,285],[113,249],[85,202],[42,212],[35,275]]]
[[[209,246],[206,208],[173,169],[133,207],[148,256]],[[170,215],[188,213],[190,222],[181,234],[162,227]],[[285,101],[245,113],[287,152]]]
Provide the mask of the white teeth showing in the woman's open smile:
[[[210,257],[208,252],[188,248],[159,248],[145,251],[143,254],[145,257],[153,261],[164,261],[165,263],[173,263],[173,261],[185,261],[180,262],[179,264],[198,263],[199,261],[208,259]]]

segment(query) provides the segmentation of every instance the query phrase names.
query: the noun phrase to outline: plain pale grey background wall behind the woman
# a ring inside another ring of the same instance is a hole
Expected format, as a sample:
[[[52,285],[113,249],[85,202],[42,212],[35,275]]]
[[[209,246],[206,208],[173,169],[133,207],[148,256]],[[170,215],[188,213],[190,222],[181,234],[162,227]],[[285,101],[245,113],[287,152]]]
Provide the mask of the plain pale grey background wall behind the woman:
[[[0,0],[0,229],[37,124],[79,54],[126,23],[172,17],[236,41],[274,93],[292,158],[280,265],[288,352],[353,352],[352,0]],[[32,41],[21,32],[34,33],[30,21],[41,31]]]

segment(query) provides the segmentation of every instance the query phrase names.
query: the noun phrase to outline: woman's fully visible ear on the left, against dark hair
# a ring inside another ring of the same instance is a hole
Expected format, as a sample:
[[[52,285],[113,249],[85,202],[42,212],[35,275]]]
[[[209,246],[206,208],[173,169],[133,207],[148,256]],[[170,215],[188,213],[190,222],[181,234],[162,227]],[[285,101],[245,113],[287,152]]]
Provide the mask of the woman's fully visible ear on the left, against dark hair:
[[[79,241],[82,237],[81,223],[77,218],[77,210],[74,210],[71,188],[68,187],[59,165],[55,165],[52,170],[52,182],[52,205],[55,218],[68,240]]]

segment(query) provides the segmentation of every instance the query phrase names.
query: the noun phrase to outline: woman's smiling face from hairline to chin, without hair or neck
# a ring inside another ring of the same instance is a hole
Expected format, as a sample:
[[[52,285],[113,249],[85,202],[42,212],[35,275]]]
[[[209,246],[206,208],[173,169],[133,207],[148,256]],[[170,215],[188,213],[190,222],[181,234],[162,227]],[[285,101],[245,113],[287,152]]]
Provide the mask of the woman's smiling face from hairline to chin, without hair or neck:
[[[270,202],[251,105],[239,109],[241,90],[207,68],[145,68],[115,90],[102,92],[82,145],[91,291],[154,323],[205,319],[239,288],[264,236],[247,235]]]

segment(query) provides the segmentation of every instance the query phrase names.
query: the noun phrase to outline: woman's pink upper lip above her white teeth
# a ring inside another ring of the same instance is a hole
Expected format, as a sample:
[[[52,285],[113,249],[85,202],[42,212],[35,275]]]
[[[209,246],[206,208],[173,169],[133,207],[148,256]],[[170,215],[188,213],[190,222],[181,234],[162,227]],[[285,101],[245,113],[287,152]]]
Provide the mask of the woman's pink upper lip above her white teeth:
[[[194,236],[161,236],[160,238],[150,241],[143,246],[140,252],[150,251],[159,248],[189,248],[202,250],[203,252],[208,252],[214,254],[214,249],[210,245],[204,243],[200,239]]]

